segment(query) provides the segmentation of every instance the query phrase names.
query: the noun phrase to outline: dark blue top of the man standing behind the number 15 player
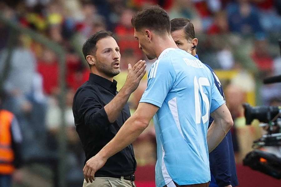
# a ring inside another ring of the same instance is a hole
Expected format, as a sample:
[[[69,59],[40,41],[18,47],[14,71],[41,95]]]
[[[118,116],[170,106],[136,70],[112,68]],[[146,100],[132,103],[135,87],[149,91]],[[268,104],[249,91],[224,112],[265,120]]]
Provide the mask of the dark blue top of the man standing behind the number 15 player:
[[[195,56],[198,58],[198,55]],[[199,58],[198,58],[199,59]],[[220,94],[223,96],[224,91],[219,78],[214,73],[214,70],[207,64],[205,64],[213,74],[214,82],[218,88]],[[209,127],[214,121],[210,117]],[[229,131],[220,144],[209,154],[210,170],[211,170],[211,182],[209,187],[223,187],[227,185],[237,186],[238,179],[236,174],[236,166],[234,159],[234,151],[231,140],[231,132]]]

